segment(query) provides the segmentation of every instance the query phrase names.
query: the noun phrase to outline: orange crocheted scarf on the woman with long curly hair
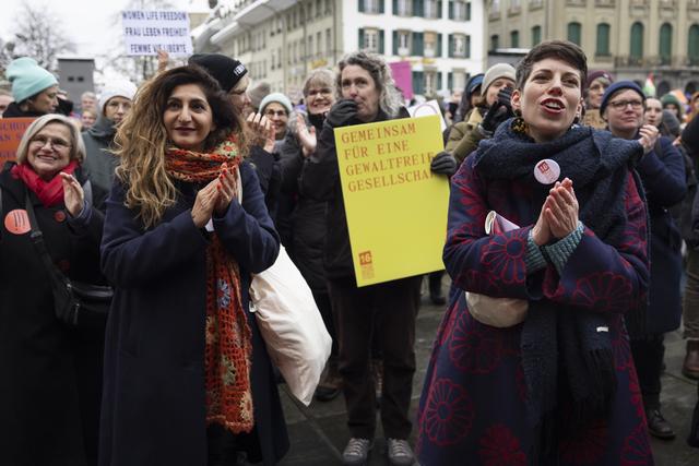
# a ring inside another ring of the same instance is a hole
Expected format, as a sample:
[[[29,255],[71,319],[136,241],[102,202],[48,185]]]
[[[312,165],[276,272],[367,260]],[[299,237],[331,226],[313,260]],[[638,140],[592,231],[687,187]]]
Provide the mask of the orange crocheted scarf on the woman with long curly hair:
[[[221,165],[238,168],[240,155],[235,136],[213,153],[180,148],[166,151],[171,177],[188,182],[208,182],[221,174]],[[234,433],[253,427],[250,368],[252,336],[240,294],[238,263],[214,234],[206,249],[206,423],[220,423]]]

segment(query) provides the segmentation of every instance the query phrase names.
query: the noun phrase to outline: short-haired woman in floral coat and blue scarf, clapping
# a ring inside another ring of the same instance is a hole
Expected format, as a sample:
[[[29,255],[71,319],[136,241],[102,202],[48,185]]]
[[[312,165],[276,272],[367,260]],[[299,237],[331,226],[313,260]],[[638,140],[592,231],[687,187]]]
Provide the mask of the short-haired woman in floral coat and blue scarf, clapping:
[[[443,260],[459,292],[425,375],[422,465],[652,464],[625,328],[649,280],[630,164],[652,140],[574,124],[585,74],[574,44],[534,47],[520,116],[452,177]],[[487,234],[490,211],[514,225]]]

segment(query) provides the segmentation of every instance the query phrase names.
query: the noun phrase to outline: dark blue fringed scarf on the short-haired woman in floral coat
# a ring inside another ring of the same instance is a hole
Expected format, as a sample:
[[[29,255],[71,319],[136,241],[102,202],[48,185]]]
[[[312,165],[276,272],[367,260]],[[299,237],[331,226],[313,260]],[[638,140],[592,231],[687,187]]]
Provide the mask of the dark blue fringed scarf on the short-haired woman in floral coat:
[[[616,139],[590,127],[573,126],[555,141],[536,143],[528,135],[526,123],[514,118],[500,124],[493,139],[481,142],[474,169],[486,180],[517,179],[541,187],[543,204],[549,187],[536,181],[534,167],[544,158],[556,160],[560,180],[568,177],[573,181],[581,222],[602,241],[618,247],[626,225],[624,198],[629,170],[640,192],[640,180],[630,167],[642,154],[637,141]],[[608,326],[607,319],[579,309],[559,312],[545,299],[530,301],[520,348],[528,414],[532,427],[538,428],[543,450],[534,453],[544,456],[542,462],[555,452],[556,423],[577,429],[608,414],[616,390],[612,342],[608,333],[596,331]],[[562,399],[572,407],[565,422],[555,410]]]

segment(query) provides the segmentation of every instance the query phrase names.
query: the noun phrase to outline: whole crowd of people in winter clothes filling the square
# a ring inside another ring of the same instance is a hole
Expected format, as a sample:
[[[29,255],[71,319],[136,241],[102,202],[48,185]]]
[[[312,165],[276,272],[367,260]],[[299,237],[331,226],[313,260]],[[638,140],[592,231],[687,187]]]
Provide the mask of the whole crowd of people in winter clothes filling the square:
[[[0,464],[279,463],[283,380],[249,288],[281,244],[333,340],[315,397],[344,396],[345,465],[377,409],[392,465],[652,465],[649,434],[675,438],[680,323],[699,380],[699,93],[645,95],[552,40],[442,103],[451,286],[428,277],[446,312],[413,419],[424,277],[357,286],[334,135],[410,118],[387,62],[348,53],[297,104],[230,57],[166,63],[80,113],[32,58],[5,71],[0,113],[35,120],[0,172]],[[66,276],[112,287],[108,316],[57,319],[37,229]]]

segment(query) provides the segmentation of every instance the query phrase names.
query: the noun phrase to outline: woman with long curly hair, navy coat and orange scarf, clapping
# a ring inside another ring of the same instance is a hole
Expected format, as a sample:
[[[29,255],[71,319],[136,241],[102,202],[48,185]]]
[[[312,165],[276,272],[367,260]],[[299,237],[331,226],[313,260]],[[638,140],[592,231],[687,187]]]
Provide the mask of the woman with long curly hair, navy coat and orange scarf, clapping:
[[[280,241],[241,128],[197,65],[146,83],[119,127],[102,249],[115,285],[103,465],[272,465],[288,449],[248,296]]]

